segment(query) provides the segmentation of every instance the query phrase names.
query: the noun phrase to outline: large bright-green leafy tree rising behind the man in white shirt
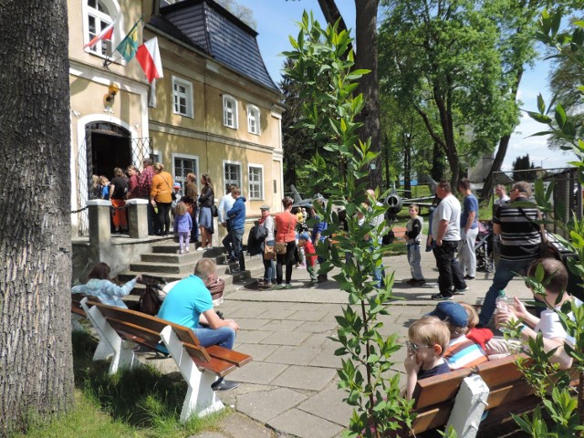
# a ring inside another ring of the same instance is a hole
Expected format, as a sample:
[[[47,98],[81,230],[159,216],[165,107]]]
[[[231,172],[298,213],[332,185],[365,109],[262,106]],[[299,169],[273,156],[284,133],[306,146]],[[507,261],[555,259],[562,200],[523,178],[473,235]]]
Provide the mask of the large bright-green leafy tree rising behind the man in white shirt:
[[[380,30],[381,82],[416,110],[443,151],[454,186],[462,163],[493,151],[518,119],[491,3],[381,3],[388,7]]]

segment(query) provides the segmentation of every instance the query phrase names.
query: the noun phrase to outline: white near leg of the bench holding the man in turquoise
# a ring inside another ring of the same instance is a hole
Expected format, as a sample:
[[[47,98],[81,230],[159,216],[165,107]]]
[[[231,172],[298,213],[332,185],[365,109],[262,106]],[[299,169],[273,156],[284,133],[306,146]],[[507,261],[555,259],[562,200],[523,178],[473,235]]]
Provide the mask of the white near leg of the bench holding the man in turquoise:
[[[224,404],[217,399],[215,392],[211,389],[211,384],[217,380],[217,376],[197,368],[189,353],[183,349],[180,339],[172,331],[171,326],[166,326],[162,330],[161,337],[171,353],[172,359],[181,370],[184,380],[189,385],[184,398],[181,422],[186,422],[193,414],[203,417],[222,410]]]

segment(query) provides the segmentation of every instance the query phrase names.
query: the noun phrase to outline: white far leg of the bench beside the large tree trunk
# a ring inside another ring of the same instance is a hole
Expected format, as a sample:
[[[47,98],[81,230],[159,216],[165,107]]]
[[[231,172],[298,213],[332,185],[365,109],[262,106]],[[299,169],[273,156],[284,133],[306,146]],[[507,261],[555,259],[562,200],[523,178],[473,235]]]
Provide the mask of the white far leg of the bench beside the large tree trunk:
[[[85,310],[91,324],[99,334],[99,345],[93,354],[93,360],[104,360],[113,354],[110,363],[110,374],[114,374],[120,368],[131,369],[134,364],[138,363],[133,352],[136,344],[121,339],[116,330],[111,328],[106,318],[101,315],[99,308],[88,308],[85,303],[86,300],[87,298],[83,298],[81,307]]]

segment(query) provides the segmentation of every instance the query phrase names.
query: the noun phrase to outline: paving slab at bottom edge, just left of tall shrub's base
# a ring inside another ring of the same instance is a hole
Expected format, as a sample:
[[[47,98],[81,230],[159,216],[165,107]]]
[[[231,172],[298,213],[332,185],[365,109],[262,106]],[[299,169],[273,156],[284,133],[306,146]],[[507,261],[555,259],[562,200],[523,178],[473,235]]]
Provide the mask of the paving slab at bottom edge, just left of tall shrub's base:
[[[277,431],[291,433],[299,438],[333,438],[343,430],[339,424],[297,409],[278,415],[268,424]]]

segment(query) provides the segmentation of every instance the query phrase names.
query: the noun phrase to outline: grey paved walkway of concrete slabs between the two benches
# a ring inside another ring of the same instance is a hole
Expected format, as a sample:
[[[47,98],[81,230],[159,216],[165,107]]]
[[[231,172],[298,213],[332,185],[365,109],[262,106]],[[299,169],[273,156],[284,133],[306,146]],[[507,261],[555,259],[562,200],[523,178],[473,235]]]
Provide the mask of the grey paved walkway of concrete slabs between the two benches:
[[[391,306],[381,333],[399,333],[404,339],[412,321],[434,308],[430,296],[437,289],[404,283],[410,278],[405,255],[384,262],[386,272],[394,272],[395,296],[404,299]],[[422,255],[422,270],[427,281],[436,282],[431,253]],[[254,361],[230,375],[242,382],[240,387],[220,396],[236,412],[221,422],[220,432],[198,434],[197,438],[333,438],[348,426],[351,409],[342,401],[345,392],[337,389],[340,358],[334,350],[339,344],[328,339],[336,337],[334,317],[347,294],[334,281],[318,289],[305,288],[306,270],[295,270],[292,278],[294,287],[289,290],[241,289],[225,297],[221,311],[242,328],[235,349],[252,355]],[[454,300],[480,303],[491,278],[492,274],[478,273],[468,282],[470,290]],[[520,279],[512,281],[506,291],[510,297],[531,297]],[[404,355],[401,349],[393,357],[393,368],[401,375]]]

